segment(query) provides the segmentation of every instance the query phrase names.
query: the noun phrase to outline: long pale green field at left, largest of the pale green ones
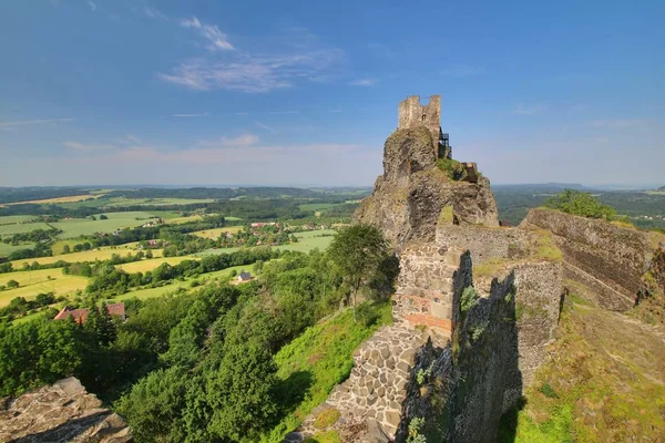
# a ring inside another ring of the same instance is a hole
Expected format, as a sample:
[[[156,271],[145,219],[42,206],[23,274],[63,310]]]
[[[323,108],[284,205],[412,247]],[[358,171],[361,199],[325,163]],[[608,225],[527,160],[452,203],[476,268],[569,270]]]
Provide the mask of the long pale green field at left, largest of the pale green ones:
[[[129,213],[101,213],[109,219],[100,220],[98,214],[96,220],[88,218],[72,218],[71,220],[61,220],[51,224],[54,228],[62,229],[60,238],[74,238],[82,235],[93,235],[94,233],[112,233],[115,229],[133,228],[150,222],[153,217],[151,213],[129,212]],[[137,219],[139,218],[139,219]]]

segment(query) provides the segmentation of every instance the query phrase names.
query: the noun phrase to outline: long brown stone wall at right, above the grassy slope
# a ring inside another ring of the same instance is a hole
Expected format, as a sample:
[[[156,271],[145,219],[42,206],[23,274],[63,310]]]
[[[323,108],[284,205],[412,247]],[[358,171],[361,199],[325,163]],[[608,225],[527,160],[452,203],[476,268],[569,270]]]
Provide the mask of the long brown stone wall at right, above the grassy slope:
[[[602,307],[634,305],[653,249],[646,233],[551,209],[531,209],[520,227],[550,230],[563,253],[566,277],[597,292]]]

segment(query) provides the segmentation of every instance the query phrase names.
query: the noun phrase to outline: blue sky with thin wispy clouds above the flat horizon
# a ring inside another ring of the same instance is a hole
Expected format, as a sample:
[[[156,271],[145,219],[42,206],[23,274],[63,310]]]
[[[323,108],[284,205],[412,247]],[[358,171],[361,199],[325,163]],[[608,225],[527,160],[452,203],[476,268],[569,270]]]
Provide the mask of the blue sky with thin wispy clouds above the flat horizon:
[[[407,95],[492,183],[665,185],[664,1],[0,3],[0,186],[371,185]]]

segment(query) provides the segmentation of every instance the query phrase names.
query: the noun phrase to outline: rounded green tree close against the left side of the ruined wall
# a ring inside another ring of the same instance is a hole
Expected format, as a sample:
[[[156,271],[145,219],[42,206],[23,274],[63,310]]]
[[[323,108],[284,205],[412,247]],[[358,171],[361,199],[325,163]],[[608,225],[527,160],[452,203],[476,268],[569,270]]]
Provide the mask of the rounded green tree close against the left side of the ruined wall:
[[[370,225],[345,228],[330,244],[328,256],[340,272],[354,307],[358,290],[376,278],[389,253],[390,247],[383,234]]]

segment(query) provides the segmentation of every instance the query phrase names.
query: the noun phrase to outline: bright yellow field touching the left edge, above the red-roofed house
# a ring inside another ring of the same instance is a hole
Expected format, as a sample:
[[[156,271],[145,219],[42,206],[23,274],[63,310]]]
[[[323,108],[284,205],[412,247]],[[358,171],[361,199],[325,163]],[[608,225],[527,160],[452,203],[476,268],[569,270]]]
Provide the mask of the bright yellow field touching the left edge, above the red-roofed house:
[[[62,269],[0,274],[0,286],[7,286],[9,280],[16,280],[20,286],[0,292],[0,307],[7,306],[16,297],[24,297],[30,300],[42,292],[53,292],[58,297],[73,292],[76,289],[84,289],[88,285],[88,278],[65,276],[62,274]]]

